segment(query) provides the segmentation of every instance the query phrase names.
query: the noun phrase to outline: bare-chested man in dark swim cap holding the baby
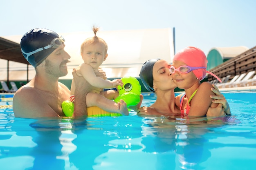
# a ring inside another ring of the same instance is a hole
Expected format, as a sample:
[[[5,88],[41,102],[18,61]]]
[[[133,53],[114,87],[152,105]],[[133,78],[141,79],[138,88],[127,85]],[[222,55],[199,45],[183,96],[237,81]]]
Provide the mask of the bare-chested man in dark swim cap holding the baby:
[[[70,98],[70,90],[58,78],[67,75],[70,55],[64,50],[64,38],[49,29],[32,29],[22,37],[21,52],[35,67],[36,75],[13,96],[15,117],[65,116],[61,104]],[[91,86],[73,71],[76,82],[74,115],[87,115],[85,97]],[[104,76],[99,73],[99,76]]]

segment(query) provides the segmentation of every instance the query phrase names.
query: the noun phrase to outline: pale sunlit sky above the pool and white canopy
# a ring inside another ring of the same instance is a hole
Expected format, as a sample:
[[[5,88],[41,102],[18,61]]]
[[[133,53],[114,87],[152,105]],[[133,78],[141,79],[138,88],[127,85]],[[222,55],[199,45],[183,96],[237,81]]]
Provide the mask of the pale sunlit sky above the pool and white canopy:
[[[0,36],[175,27],[176,52],[256,46],[255,0],[1,0]]]

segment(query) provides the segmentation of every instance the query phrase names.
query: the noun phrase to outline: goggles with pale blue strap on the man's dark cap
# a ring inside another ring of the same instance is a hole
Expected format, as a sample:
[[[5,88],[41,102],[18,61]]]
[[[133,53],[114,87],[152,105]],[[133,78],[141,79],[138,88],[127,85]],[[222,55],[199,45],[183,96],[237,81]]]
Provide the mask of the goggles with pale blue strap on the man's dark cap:
[[[65,42],[65,39],[62,36],[60,36],[59,38],[54,38],[49,45],[36,49],[35,51],[31,51],[29,53],[25,53],[22,49],[21,51],[23,54],[27,55],[26,60],[28,60],[28,57],[30,55],[33,55],[34,53],[37,53],[39,51],[43,51],[49,48],[58,48],[59,46],[61,46],[63,42]]]

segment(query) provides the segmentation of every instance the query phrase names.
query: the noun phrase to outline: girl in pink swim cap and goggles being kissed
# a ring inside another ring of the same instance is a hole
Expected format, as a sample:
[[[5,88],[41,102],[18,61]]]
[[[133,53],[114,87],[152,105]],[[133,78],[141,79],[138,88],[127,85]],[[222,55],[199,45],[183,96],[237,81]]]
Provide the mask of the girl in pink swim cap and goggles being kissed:
[[[204,116],[209,106],[217,107],[218,104],[212,103],[210,95],[212,85],[209,82],[200,83],[206,73],[220,79],[213,73],[206,71],[207,58],[204,52],[196,47],[186,47],[173,58],[173,65],[170,68],[173,81],[185,94],[180,99],[180,110],[184,115]]]

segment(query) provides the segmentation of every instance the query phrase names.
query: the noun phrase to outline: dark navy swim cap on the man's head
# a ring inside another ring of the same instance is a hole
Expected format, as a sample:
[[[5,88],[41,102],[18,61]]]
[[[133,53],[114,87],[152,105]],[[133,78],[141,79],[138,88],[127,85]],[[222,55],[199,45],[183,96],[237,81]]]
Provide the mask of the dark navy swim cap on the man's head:
[[[31,29],[20,40],[21,50],[25,53],[35,51],[39,48],[49,45],[54,38],[59,38],[59,35],[49,29]],[[22,52],[22,55],[27,61],[36,68],[48,55],[50,55],[56,48],[48,48],[42,51],[36,52],[29,57]]]

